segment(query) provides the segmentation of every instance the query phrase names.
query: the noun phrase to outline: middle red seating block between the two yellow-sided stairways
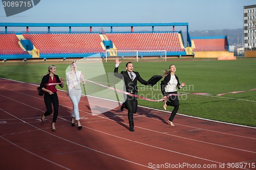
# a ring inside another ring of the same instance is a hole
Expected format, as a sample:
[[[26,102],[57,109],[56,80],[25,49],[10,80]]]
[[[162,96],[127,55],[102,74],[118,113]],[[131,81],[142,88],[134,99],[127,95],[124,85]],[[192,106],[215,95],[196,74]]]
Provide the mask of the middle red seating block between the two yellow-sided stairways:
[[[40,54],[102,53],[99,34],[23,34]]]

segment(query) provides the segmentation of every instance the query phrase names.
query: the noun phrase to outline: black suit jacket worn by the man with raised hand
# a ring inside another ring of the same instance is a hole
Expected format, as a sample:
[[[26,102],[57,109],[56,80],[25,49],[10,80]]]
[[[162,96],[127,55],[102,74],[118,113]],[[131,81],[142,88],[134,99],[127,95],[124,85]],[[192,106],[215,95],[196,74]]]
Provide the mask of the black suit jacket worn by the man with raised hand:
[[[123,79],[124,85],[125,85],[124,91],[133,93],[133,94],[138,94],[137,80],[144,85],[147,85],[147,82],[140,77],[139,72],[137,71],[133,71],[133,72],[136,74],[136,77],[134,78],[133,81],[131,80],[127,71],[121,71],[121,73],[118,73],[118,67],[116,67],[114,70],[114,76],[120,79]]]

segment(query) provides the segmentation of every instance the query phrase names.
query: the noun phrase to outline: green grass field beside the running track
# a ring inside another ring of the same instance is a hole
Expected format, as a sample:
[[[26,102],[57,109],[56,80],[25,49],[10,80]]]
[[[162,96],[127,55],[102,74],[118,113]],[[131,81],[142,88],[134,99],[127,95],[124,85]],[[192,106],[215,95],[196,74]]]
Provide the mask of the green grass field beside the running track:
[[[128,60],[121,61],[119,72],[125,70]],[[256,88],[256,59],[238,58],[231,61],[169,59],[167,62],[151,60],[132,62],[134,70],[139,71],[140,76],[146,81],[153,75],[162,75],[162,70],[168,69],[170,64],[174,64],[180,82],[186,83],[183,89],[178,90],[179,93],[204,92],[212,94],[209,96],[195,94],[180,96],[178,113],[232,124],[256,126],[256,90],[248,91]],[[0,63],[0,77],[28,83],[40,83],[41,75],[46,74],[50,64],[56,65],[59,77],[66,77],[65,70],[70,63],[54,61]],[[114,60],[109,60],[103,65],[106,72],[114,71]],[[138,84],[139,95],[154,100],[162,98],[160,82],[153,87]],[[246,92],[216,96],[224,92],[243,90]],[[139,105],[163,110],[163,102],[139,100]],[[172,109],[172,107],[167,108],[168,111],[172,111]]]

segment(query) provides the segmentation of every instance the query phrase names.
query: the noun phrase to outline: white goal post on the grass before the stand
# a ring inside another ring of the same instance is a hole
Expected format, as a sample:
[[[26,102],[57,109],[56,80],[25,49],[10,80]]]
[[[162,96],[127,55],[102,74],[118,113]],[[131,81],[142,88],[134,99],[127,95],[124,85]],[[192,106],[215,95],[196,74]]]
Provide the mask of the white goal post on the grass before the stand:
[[[136,57],[139,61],[139,56],[162,56],[166,61],[166,50],[106,50],[105,60],[108,62],[108,57]]]

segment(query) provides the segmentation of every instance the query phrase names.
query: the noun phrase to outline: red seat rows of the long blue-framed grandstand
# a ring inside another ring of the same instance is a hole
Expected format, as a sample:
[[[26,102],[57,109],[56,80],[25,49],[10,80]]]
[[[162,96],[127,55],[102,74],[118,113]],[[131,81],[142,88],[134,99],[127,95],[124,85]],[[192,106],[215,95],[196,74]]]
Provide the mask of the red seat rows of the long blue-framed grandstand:
[[[30,40],[40,54],[74,54],[74,53],[103,53],[99,34],[22,34]],[[178,33],[107,33],[117,50],[138,50],[167,52],[184,52]],[[0,55],[28,54],[19,46],[15,34],[0,34]]]

